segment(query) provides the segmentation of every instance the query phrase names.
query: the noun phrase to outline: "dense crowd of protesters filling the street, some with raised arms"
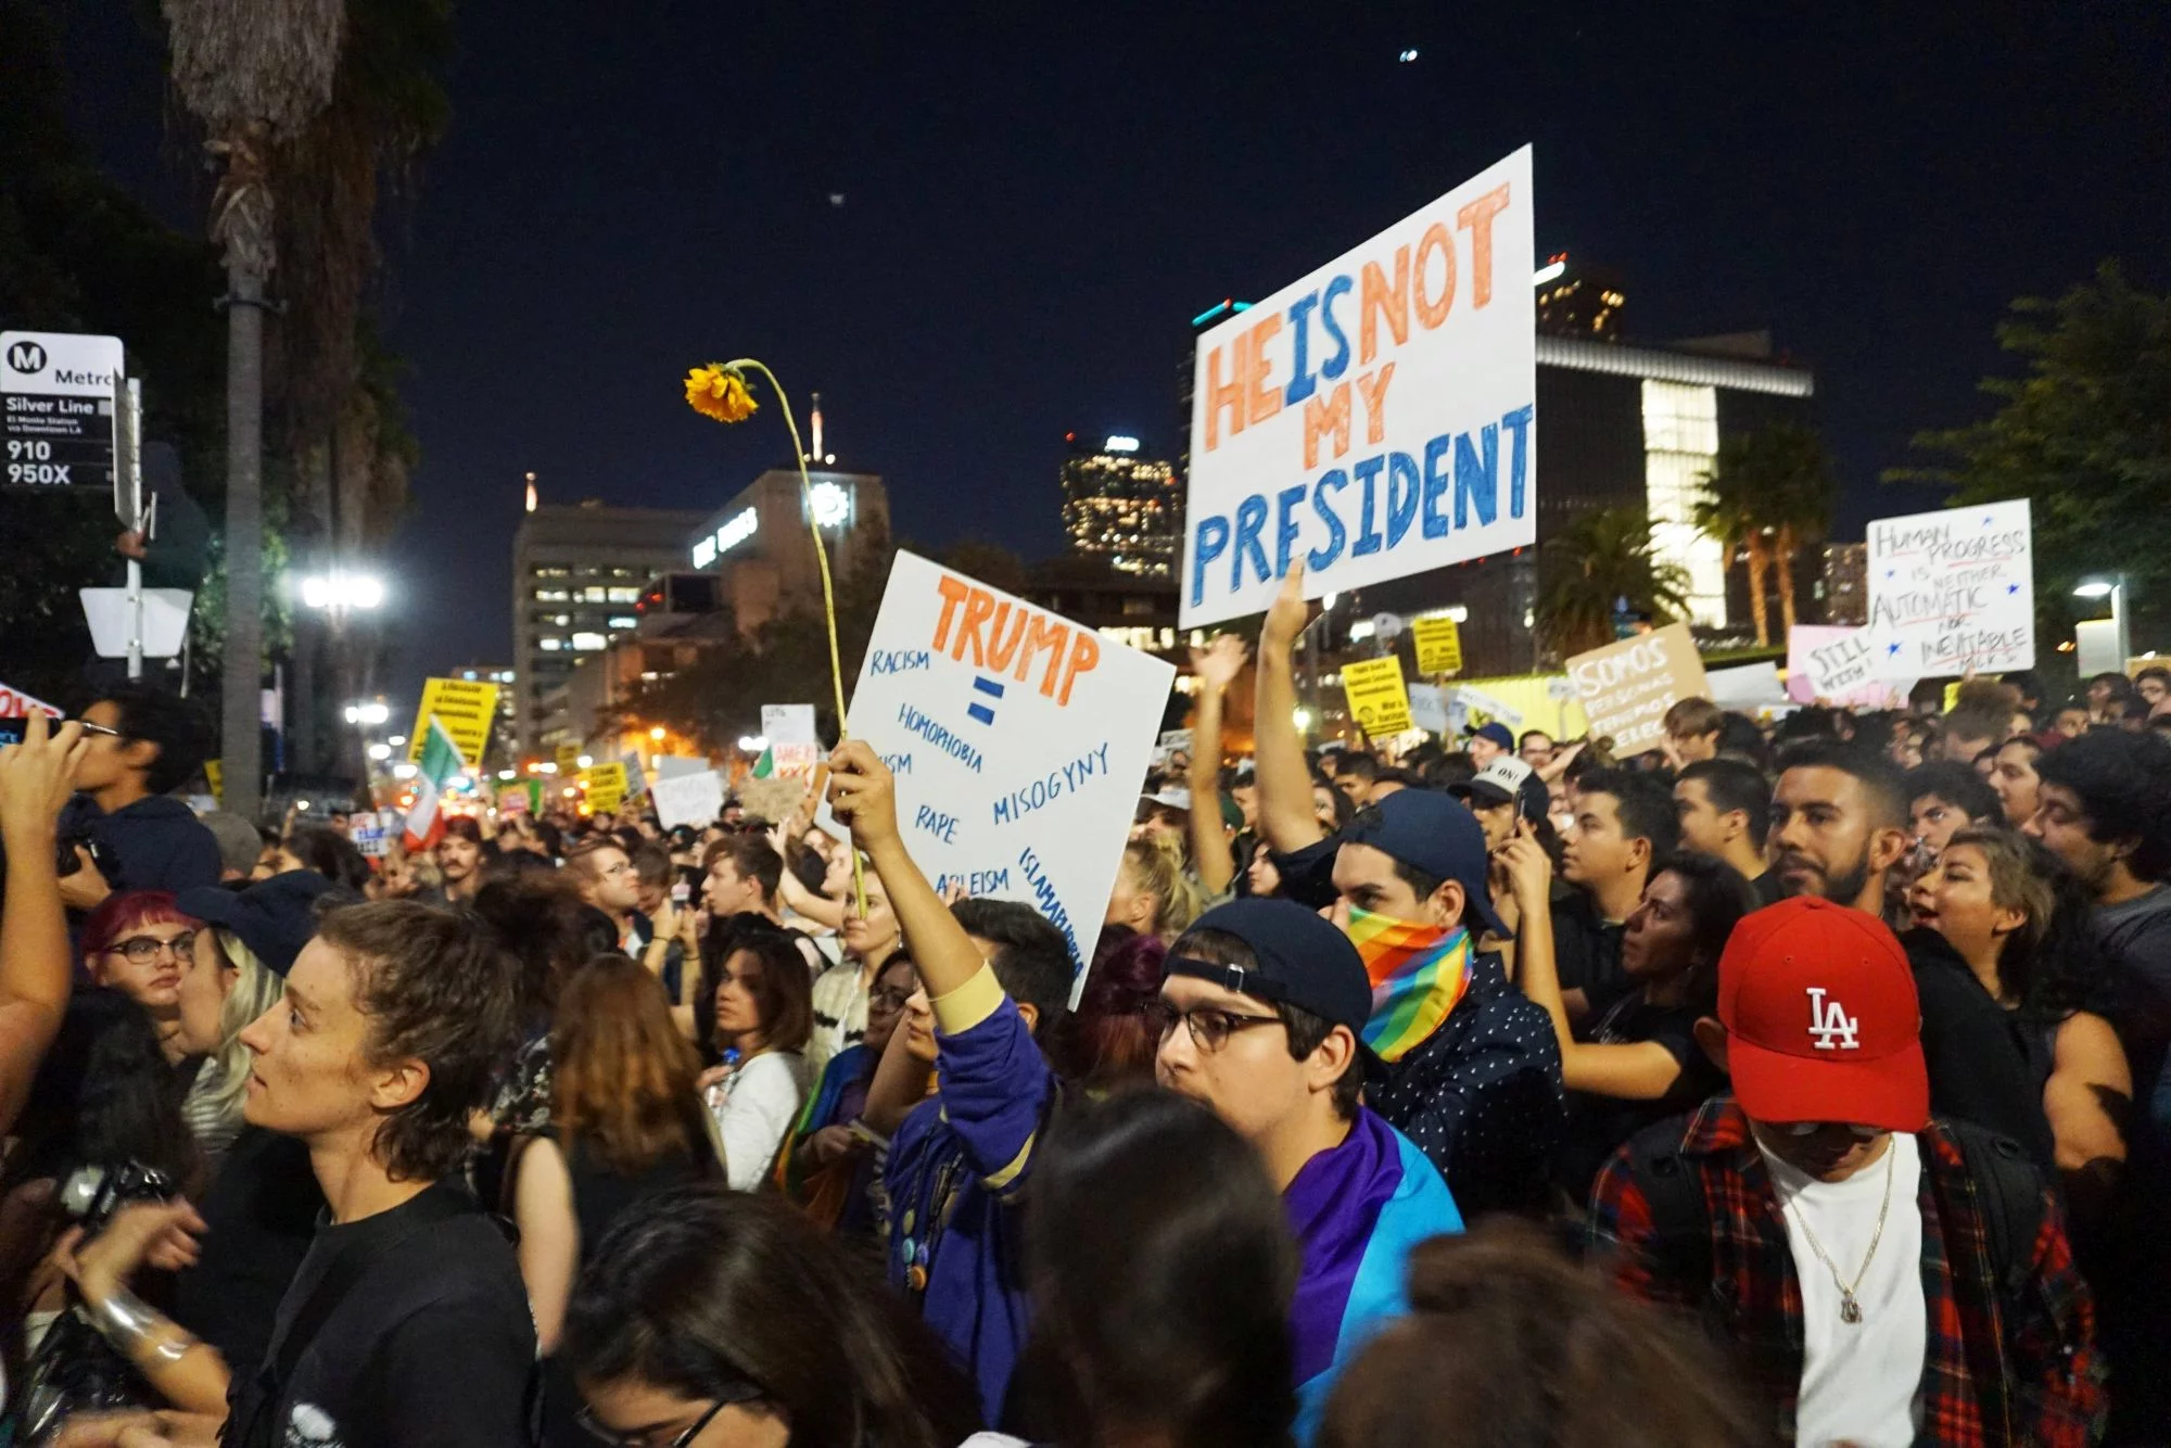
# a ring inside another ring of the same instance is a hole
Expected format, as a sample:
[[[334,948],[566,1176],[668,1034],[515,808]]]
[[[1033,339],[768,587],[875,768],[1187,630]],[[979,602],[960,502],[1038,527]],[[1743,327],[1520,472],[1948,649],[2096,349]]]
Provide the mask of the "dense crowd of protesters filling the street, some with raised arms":
[[[33,721],[0,1441],[2171,1439],[2171,673],[1307,749],[1305,623],[1088,962],[858,740],[369,858]]]

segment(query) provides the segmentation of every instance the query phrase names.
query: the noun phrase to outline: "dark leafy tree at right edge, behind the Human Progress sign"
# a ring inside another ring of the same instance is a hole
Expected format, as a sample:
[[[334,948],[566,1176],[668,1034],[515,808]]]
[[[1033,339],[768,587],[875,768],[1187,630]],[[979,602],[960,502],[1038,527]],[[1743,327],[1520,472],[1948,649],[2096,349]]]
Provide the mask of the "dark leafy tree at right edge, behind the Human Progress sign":
[[[2106,261],[2058,300],[2021,297],[1997,343],[2026,365],[1986,378],[1997,412],[1921,432],[1934,467],[1893,482],[1937,482],[1952,506],[2026,497],[2034,521],[2036,606],[2065,632],[2071,586],[2125,573],[2143,608],[2171,586],[2171,295],[2134,287]]]

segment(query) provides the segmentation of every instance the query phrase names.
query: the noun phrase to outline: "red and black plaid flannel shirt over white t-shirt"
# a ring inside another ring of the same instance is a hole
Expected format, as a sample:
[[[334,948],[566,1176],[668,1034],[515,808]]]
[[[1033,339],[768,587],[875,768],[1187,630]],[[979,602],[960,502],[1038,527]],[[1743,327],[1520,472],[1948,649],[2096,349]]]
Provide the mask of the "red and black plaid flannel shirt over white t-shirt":
[[[1704,1194],[1706,1250],[1659,1240],[1626,1148],[1594,1187],[1594,1246],[1611,1253],[1613,1276],[1633,1296],[1700,1316],[1772,1405],[1778,1435],[1791,1441],[1802,1392],[1802,1283],[1750,1122],[1732,1096],[1713,1096],[1685,1127],[1669,1122],[1669,1129],[1680,1129],[1680,1157]],[[2056,1198],[2045,1192],[2030,1283],[2008,1311],[1958,1140],[1943,1122],[1930,1122],[1917,1142],[1930,1339],[1915,1396],[1921,1418],[1915,1441],[1952,1448],[2093,1441],[2104,1415],[2095,1307],[2073,1270]]]

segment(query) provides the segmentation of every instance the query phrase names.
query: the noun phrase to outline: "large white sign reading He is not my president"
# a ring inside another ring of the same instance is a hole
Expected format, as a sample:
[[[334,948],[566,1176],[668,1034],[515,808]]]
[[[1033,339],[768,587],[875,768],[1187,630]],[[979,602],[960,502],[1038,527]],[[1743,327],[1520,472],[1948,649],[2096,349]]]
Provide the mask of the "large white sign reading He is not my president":
[[[1181,627],[1535,541],[1531,148],[1198,339]]]

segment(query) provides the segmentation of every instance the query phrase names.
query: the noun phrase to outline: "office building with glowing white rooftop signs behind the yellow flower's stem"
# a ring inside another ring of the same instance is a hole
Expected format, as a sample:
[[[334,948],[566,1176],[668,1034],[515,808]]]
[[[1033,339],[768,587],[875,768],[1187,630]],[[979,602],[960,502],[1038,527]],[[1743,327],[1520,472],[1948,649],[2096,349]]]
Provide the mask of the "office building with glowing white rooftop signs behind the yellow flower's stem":
[[[836,577],[879,560],[890,538],[890,495],[875,473],[769,469],[714,515],[684,530],[671,567],[719,580],[719,601],[742,634],[784,612],[821,612],[821,528]]]

